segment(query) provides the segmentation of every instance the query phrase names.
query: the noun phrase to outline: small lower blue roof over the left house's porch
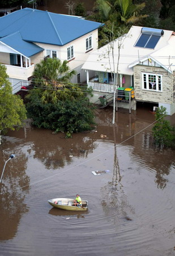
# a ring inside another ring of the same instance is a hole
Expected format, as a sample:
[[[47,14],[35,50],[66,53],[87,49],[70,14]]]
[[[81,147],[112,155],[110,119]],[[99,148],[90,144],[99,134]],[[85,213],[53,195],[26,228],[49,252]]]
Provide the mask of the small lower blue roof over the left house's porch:
[[[31,57],[36,53],[44,51],[43,48],[36,46],[36,44],[25,42],[22,39],[20,32],[5,36],[4,38],[0,39],[0,42],[5,43],[7,46],[10,46],[12,49],[15,49],[26,57]]]

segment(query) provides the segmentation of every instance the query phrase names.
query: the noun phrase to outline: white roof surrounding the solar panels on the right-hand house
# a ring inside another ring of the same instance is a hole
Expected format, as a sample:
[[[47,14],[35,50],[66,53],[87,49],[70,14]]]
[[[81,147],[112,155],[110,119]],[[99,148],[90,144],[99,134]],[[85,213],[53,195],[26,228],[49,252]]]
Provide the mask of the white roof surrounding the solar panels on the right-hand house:
[[[123,75],[133,75],[133,66],[139,64],[139,61],[143,59],[152,58],[157,60],[161,67],[169,69],[169,56],[175,56],[175,36],[173,31],[164,30],[164,35],[161,36],[159,42],[157,42],[154,49],[135,47],[135,43],[142,33],[142,27],[132,26],[130,31],[123,36],[123,44],[120,50],[118,73]],[[114,62],[117,68],[118,60],[118,42],[121,38],[114,40]],[[97,51],[89,54],[86,63],[83,64],[82,69],[95,70],[101,72],[113,72],[113,60],[112,54],[108,56],[108,51],[110,50],[110,44],[106,44]],[[161,57],[162,56],[162,57]],[[109,61],[110,59],[110,61]],[[172,69],[175,65],[174,57],[170,58],[172,61]],[[132,65],[133,64],[133,65]]]

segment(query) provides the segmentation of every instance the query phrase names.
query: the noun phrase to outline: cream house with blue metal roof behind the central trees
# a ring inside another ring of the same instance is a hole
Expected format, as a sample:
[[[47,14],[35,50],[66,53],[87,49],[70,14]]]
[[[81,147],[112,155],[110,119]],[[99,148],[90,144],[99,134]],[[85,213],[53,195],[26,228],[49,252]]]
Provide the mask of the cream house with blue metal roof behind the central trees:
[[[0,18],[0,63],[5,64],[16,93],[31,80],[35,64],[45,57],[69,61],[77,75],[71,82],[86,81],[83,63],[98,47],[102,23],[78,16],[30,8]]]

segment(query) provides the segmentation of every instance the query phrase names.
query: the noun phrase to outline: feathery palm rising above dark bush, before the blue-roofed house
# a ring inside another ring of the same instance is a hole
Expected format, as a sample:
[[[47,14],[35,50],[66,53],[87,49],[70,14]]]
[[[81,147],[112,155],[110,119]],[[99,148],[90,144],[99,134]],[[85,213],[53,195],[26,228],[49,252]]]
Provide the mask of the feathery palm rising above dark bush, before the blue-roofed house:
[[[80,86],[70,82],[76,71],[70,71],[67,63],[66,60],[62,63],[59,59],[47,58],[36,64],[32,84],[44,104],[57,104],[59,100],[73,100],[83,96]],[[31,93],[27,98],[30,98],[30,95]]]

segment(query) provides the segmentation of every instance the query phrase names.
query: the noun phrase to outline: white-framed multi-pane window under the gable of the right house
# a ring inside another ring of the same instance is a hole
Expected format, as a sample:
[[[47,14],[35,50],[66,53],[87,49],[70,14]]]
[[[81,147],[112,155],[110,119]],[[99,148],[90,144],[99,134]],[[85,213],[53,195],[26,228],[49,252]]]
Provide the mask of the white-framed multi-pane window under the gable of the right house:
[[[145,90],[162,91],[162,75],[142,73],[142,85]]]

